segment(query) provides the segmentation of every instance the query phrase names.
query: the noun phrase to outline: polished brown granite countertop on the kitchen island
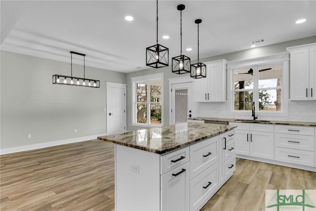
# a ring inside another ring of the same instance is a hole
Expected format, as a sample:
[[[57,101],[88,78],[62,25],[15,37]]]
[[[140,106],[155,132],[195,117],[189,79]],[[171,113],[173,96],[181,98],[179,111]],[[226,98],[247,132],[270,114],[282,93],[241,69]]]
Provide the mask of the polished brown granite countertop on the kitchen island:
[[[232,130],[235,127],[237,126],[193,122],[100,136],[98,139],[152,153],[164,154]]]

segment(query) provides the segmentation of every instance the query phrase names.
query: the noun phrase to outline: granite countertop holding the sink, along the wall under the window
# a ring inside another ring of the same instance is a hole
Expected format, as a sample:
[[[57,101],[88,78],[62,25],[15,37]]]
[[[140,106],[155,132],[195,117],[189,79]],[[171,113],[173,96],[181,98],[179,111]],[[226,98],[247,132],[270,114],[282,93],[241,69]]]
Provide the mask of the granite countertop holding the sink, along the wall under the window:
[[[214,122],[233,122],[233,123],[261,123],[261,124],[272,124],[272,125],[289,125],[289,126],[306,126],[316,127],[316,123],[313,122],[295,122],[295,121],[268,121],[268,120],[246,120],[246,119],[229,119],[229,118],[212,118],[212,117],[193,117],[189,120],[204,120]]]

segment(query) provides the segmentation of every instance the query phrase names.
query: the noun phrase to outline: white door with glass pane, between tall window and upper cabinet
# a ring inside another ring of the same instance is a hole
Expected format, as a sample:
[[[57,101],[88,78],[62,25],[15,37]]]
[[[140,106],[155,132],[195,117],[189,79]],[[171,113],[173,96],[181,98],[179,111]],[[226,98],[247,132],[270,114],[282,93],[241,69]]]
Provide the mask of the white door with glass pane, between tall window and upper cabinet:
[[[187,123],[192,115],[192,82],[172,84],[172,125]]]

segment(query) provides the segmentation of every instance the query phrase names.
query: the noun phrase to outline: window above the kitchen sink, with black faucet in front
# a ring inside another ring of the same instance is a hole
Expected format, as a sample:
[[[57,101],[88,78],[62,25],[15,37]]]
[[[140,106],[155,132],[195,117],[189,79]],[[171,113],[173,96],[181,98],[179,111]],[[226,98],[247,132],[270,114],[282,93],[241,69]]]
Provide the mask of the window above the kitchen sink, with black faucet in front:
[[[282,64],[233,69],[234,111],[282,112]]]

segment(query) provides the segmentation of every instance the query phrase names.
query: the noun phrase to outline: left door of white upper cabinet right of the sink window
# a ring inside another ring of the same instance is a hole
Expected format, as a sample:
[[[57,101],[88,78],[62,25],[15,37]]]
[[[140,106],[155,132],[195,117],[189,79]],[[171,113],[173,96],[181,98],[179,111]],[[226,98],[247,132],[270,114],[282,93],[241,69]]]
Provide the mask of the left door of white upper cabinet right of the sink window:
[[[309,49],[291,51],[291,100],[307,100],[309,91]]]

